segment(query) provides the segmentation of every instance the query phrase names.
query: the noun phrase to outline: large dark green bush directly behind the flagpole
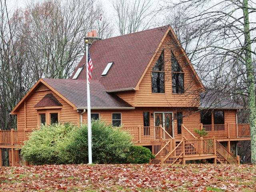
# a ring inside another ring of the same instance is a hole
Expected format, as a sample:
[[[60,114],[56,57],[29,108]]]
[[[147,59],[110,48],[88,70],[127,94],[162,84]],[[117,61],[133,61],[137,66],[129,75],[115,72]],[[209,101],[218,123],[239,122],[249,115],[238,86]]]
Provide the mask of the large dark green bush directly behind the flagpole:
[[[62,145],[64,146],[64,145]],[[105,122],[92,122],[92,162],[125,163],[132,136]],[[62,158],[69,163],[88,163],[88,128],[84,124],[70,137],[70,142],[61,150]]]

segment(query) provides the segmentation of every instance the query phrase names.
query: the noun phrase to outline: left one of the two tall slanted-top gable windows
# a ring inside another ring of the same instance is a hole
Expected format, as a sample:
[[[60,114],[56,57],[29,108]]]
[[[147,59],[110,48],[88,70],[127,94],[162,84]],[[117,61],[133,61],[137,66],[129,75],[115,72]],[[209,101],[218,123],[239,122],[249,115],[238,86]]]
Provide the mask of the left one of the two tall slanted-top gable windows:
[[[164,51],[151,72],[152,93],[164,93]]]

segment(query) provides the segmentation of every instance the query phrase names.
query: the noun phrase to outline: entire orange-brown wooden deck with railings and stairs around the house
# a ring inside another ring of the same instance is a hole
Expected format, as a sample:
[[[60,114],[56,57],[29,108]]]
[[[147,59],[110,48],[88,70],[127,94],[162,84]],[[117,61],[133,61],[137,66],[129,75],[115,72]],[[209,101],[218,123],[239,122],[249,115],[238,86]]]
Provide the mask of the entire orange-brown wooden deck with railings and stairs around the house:
[[[196,135],[195,129],[205,129],[204,138]],[[185,163],[186,160],[214,158],[214,163],[238,163],[239,160],[230,153],[230,141],[250,140],[249,124],[224,125],[184,125],[181,139],[172,138],[160,125],[158,127],[123,127],[122,130],[133,136],[135,145],[152,146],[156,156],[152,163]],[[0,159],[2,148],[10,148],[11,165],[16,164],[15,150],[21,148],[33,130],[0,130]],[[228,149],[219,142],[228,141]],[[0,161],[2,166],[2,161]]]

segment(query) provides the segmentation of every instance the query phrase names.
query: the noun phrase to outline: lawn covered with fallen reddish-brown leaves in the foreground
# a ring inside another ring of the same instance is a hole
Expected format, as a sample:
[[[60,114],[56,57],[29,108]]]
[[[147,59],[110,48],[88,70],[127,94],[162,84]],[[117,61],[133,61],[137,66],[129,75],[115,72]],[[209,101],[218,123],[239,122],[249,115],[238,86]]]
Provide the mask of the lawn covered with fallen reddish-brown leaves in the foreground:
[[[0,167],[0,191],[256,191],[255,165]]]

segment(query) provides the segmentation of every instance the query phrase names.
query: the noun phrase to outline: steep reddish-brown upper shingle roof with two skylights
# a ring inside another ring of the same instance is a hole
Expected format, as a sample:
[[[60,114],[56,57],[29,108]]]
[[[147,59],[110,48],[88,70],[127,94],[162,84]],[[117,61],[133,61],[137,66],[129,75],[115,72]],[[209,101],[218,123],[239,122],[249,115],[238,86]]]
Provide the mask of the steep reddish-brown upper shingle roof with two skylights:
[[[92,81],[100,81],[106,91],[135,88],[168,27],[94,41],[90,46]],[[85,64],[85,60],[84,55],[76,70]],[[101,74],[109,62],[114,64],[108,74],[102,77]],[[86,68],[78,79],[86,80]]]

